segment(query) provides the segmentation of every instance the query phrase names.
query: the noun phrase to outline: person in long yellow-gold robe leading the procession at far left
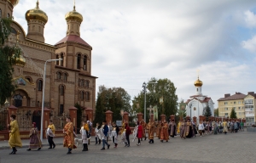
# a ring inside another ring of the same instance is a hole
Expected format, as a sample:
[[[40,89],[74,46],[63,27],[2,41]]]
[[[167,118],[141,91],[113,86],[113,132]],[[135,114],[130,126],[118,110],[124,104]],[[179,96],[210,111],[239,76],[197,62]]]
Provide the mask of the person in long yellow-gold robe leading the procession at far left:
[[[22,147],[20,140],[20,131],[18,122],[15,120],[16,115],[10,115],[10,124],[9,126],[9,146],[13,151],[9,155],[15,155],[17,152],[16,147]]]

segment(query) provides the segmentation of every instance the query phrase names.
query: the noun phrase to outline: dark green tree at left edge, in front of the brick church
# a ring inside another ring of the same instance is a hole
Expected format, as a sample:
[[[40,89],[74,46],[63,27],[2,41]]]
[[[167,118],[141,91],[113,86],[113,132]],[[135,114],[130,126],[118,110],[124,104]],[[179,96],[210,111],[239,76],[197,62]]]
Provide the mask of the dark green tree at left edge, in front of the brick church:
[[[14,72],[12,65],[22,53],[17,44],[10,46],[6,43],[11,34],[11,23],[11,19],[0,18],[0,28],[2,29],[0,30],[0,104],[4,104],[5,99],[15,91],[16,86],[12,81]]]

